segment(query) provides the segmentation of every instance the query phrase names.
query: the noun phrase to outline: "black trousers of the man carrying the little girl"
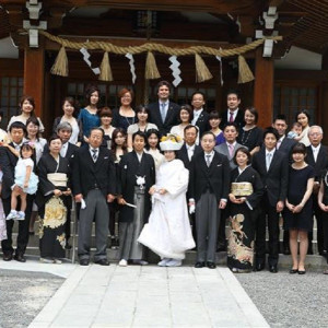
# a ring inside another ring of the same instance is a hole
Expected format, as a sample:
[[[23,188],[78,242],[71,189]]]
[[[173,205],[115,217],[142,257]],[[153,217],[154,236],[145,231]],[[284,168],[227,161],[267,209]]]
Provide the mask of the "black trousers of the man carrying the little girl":
[[[19,235],[17,235],[17,246],[15,254],[24,254],[28,244],[28,226],[30,226],[30,219],[32,213],[32,206],[33,206],[34,195],[27,195],[26,197],[26,210],[25,210],[25,220],[17,221],[19,222]],[[2,199],[3,203],[3,210],[5,216],[10,213],[11,210],[11,197],[7,199]],[[17,202],[17,210],[20,210],[21,203]],[[5,221],[7,225],[7,236],[8,238],[5,241],[1,242],[1,247],[3,254],[13,254],[14,249],[12,247],[12,230],[14,225],[14,220]]]

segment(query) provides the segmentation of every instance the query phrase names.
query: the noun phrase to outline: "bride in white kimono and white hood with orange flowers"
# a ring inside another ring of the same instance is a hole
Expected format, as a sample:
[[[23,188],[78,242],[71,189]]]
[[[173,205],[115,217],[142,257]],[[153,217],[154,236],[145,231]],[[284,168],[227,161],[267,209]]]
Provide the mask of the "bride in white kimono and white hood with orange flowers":
[[[156,184],[151,187],[152,212],[149,223],[138,242],[161,256],[161,267],[178,267],[187,249],[195,247],[188,218],[186,192],[189,172],[175,151],[181,148],[175,136],[169,134],[160,143],[165,161],[161,164]]]

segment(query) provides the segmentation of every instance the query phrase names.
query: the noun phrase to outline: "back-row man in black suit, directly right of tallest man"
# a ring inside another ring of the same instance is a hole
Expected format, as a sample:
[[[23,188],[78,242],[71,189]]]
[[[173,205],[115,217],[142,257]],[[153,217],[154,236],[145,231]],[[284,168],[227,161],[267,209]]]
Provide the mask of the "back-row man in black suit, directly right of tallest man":
[[[209,131],[211,129],[209,124],[209,114],[203,108],[206,104],[204,94],[200,91],[194,92],[191,96],[191,105],[194,107],[194,118],[191,124],[197,126],[199,129],[199,138],[201,138],[202,133]]]

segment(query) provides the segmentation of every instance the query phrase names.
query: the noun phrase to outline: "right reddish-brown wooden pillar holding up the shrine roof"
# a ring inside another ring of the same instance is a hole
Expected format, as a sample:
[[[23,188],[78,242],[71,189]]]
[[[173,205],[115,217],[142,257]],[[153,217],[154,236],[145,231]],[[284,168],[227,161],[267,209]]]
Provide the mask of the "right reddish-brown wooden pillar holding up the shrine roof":
[[[262,57],[262,47],[256,50],[254,106],[259,113],[258,125],[271,126],[273,119],[274,68],[272,58]]]

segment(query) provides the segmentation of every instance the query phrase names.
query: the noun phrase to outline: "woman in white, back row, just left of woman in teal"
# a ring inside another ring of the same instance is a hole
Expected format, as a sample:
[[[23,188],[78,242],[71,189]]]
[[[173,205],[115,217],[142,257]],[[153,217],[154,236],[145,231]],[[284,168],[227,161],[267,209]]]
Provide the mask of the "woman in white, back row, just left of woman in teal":
[[[83,128],[82,121],[75,118],[78,112],[75,99],[73,97],[66,97],[61,103],[61,108],[63,115],[55,118],[52,133],[57,133],[57,127],[60,122],[68,121],[72,127],[72,134],[69,142],[80,145],[83,140]]]

